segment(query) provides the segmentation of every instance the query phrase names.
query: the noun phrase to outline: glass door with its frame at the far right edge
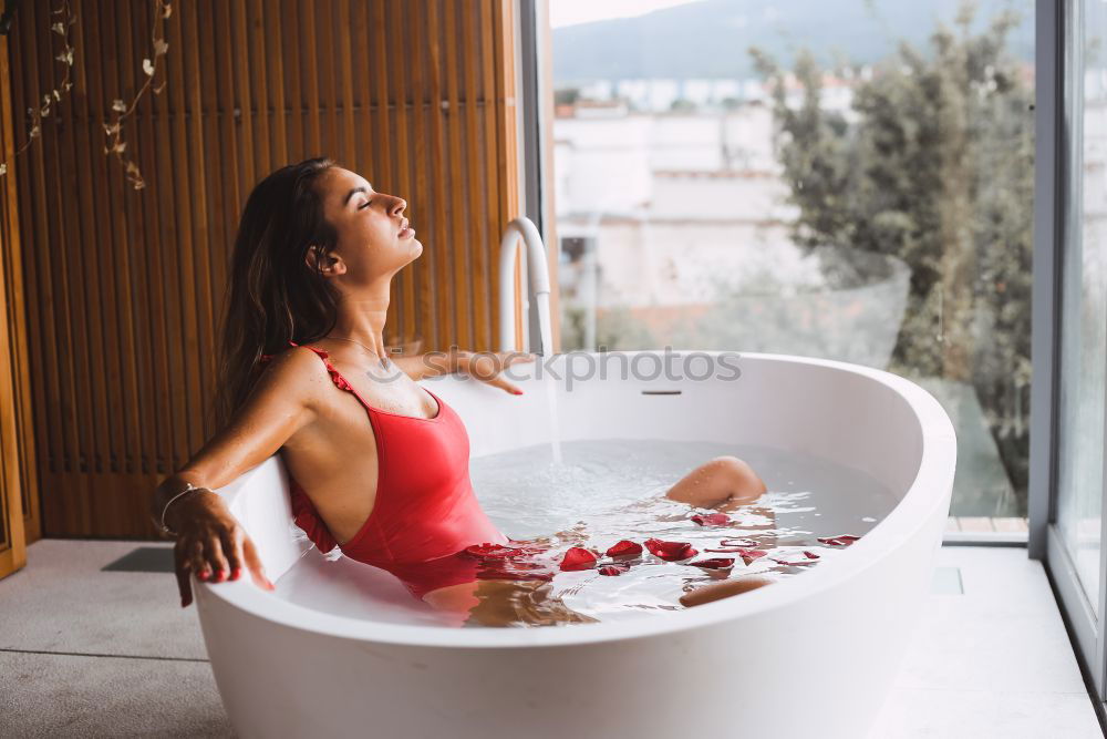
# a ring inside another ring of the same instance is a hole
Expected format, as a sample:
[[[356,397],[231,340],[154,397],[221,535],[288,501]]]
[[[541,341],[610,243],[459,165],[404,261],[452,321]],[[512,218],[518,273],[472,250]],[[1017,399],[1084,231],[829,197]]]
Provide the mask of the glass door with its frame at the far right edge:
[[[1057,449],[1048,564],[1103,700],[1107,3],[1067,0],[1063,12]]]

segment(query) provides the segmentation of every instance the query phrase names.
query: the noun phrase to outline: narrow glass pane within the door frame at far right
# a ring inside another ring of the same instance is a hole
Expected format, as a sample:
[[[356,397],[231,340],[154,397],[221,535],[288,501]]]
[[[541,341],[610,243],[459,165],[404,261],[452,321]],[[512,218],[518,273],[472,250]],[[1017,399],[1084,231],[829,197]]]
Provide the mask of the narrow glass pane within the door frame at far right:
[[[1057,525],[1092,607],[1099,612],[1107,381],[1107,6],[1074,2],[1073,73],[1063,266]],[[1083,23],[1078,22],[1083,14]],[[1082,48],[1083,47],[1083,51]],[[1080,64],[1083,58],[1083,65]]]

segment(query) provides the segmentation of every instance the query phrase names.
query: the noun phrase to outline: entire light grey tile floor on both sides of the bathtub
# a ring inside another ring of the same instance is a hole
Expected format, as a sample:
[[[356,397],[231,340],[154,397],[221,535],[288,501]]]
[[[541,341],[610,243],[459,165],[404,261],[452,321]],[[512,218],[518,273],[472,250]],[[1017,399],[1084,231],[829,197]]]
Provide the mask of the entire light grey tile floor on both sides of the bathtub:
[[[138,542],[44,540],[0,581],[0,737],[232,737],[195,612]],[[1042,566],[945,547],[872,739],[1101,737]],[[400,739],[400,738],[397,738]]]

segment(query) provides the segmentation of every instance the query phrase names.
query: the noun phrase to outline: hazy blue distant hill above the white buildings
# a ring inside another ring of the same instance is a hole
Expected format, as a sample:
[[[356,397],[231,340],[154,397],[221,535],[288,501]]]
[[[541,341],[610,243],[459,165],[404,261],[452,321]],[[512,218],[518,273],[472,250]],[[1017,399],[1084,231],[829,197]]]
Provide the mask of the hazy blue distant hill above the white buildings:
[[[937,22],[950,22],[960,6],[961,0],[703,0],[556,29],[554,81],[749,78],[752,45],[785,63],[803,47],[824,63],[836,54],[872,63],[893,53],[900,40],[927,48]],[[977,7],[981,25],[1002,9],[1018,10],[1023,22],[1011,37],[1012,51],[1033,60],[1032,0],[977,0]]]

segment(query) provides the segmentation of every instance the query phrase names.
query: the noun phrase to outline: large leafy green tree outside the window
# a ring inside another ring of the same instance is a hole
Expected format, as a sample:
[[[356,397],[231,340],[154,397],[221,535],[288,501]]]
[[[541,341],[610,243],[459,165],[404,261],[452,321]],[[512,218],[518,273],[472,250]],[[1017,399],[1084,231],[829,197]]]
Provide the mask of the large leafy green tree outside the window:
[[[871,74],[842,75],[857,80],[848,120],[821,105],[826,72],[810,53],[792,75],[751,53],[772,91],[796,243],[907,261],[892,369],[972,382],[1025,501],[1033,90],[1007,49],[1018,17],[1001,13],[979,32],[974,17],[965,2],[930,53],[901,43]]]

